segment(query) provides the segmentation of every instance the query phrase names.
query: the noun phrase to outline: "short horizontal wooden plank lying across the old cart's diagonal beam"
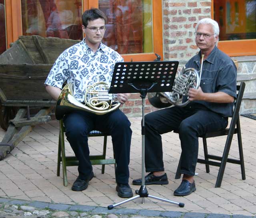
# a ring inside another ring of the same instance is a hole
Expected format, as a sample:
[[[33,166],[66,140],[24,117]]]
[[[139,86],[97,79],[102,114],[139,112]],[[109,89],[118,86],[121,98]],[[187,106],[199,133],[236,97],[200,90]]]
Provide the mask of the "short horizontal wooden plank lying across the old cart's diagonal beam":
[[[20,118],[20,119],[13,119],[10,120],[10,123],[13,124],[15,127],[22,127],[22,126],[35,126],[38,124],[46,124],[48,121],[51,120],[51,116],[38,116],[38,117],[31,117],[29,120],[27,118]]]

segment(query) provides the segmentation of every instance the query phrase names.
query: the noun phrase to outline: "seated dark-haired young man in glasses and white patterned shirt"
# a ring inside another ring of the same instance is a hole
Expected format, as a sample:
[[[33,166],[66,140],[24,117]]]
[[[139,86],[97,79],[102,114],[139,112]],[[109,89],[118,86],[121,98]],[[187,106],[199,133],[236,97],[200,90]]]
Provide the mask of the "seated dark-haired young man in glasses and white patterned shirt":
[[[46,90],[54,99],[58,99],[65,81],[74,84],[74,96],[84,102],[87,86],[96,82],[110,85],[116,62],[123,58],[111,48],[102,44],[105,32],[106,16],[99,9],[86,10],[82,15],[82,30],[86,37],[82,42],[66,49],[52,66],[46,79]],[[118,94],[118,100],[124,104],[130,94]],[[88,133],[93,130],[110,133],[116,159],[116,190],[118,196],[133,196],[128,185],[130,142],[132,130],[128,118],[119,109],[104,115],[96,115],[86,111],[75,111],[63,118],[67,140],[76,158],[78,158],[79,176],[72,186],[73,191],[85,190],[93,178],[92,165],[89,158]]]

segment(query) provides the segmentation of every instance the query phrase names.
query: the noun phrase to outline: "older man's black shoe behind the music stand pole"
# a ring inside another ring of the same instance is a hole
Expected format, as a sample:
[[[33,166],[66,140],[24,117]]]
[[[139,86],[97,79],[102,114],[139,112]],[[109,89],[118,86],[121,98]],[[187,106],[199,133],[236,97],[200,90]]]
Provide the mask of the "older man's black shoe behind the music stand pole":
[[[168,183],[169,182],[166,173],[162,176],[155,176],[153,172],[150,172],[148,175],[145,176],[145,185],[167,185]],[[142,181],[141,179],[134,179],[132,181],[132,184],[141,185]]]

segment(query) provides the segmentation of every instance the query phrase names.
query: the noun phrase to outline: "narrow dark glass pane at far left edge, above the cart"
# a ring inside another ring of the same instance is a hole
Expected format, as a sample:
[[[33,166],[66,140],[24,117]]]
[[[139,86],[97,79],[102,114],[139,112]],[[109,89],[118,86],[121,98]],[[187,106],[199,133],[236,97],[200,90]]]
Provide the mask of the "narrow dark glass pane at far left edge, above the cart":
[[[0,0],[0,54],[6,50],[6,28],[4,0]]]

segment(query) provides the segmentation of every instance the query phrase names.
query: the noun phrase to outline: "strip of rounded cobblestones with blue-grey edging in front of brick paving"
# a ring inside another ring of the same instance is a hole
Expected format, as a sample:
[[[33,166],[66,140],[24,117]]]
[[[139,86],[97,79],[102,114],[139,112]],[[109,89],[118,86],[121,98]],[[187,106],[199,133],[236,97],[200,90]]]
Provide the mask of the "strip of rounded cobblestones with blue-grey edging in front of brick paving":
[[[255,216],[206,214],[146,209],[116,209],[8,200],[0,198],[0,218],[255,218]]]

